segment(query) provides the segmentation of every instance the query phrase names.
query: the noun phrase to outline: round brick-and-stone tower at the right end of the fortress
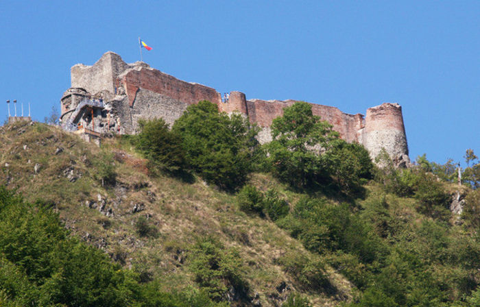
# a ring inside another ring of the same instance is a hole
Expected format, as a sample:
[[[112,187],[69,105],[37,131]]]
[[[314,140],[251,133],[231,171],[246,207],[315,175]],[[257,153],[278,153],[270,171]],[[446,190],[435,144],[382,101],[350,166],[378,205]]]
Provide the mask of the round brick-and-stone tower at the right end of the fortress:
[[[398,103],[383,103],[367,109],[363,145],[373,159],[385,149],[396,166],[409,164],[402,107]]]

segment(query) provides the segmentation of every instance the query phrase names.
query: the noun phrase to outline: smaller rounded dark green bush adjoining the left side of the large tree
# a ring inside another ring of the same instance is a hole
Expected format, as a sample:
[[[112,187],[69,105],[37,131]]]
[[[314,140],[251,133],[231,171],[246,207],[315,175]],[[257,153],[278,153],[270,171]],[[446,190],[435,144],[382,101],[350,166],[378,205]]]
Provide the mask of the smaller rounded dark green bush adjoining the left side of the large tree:
[[[134,137],[134,144],[149,160],[152,170],[178,173],[187,168],[180,136],[169,131],[163,119],[139,121],[139,126],[141,132]]]

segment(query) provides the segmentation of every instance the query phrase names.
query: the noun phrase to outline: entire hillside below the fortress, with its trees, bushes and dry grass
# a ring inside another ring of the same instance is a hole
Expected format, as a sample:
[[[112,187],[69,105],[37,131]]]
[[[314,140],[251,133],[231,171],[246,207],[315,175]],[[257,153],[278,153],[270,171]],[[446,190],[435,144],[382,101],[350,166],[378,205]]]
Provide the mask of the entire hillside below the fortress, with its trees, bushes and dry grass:
[[[141,127],[0,128],[0,305],[480,306],[473,151],[458,186],[452,161],[376,168],[304,103],[262,147],[207,101]]]

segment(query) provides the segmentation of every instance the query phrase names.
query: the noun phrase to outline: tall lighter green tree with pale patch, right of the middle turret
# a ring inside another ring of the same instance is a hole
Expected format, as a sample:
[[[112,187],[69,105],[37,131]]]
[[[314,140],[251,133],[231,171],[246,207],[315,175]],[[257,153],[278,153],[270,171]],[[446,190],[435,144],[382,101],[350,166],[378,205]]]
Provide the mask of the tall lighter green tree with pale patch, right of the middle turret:
[[[274,175],[297,188],[306,188],[328,178],[320,151],[338,138],[332,125],[314,116],[309,103],[299,101],[283,109],[272,123],[272,142],[267,146]]]

